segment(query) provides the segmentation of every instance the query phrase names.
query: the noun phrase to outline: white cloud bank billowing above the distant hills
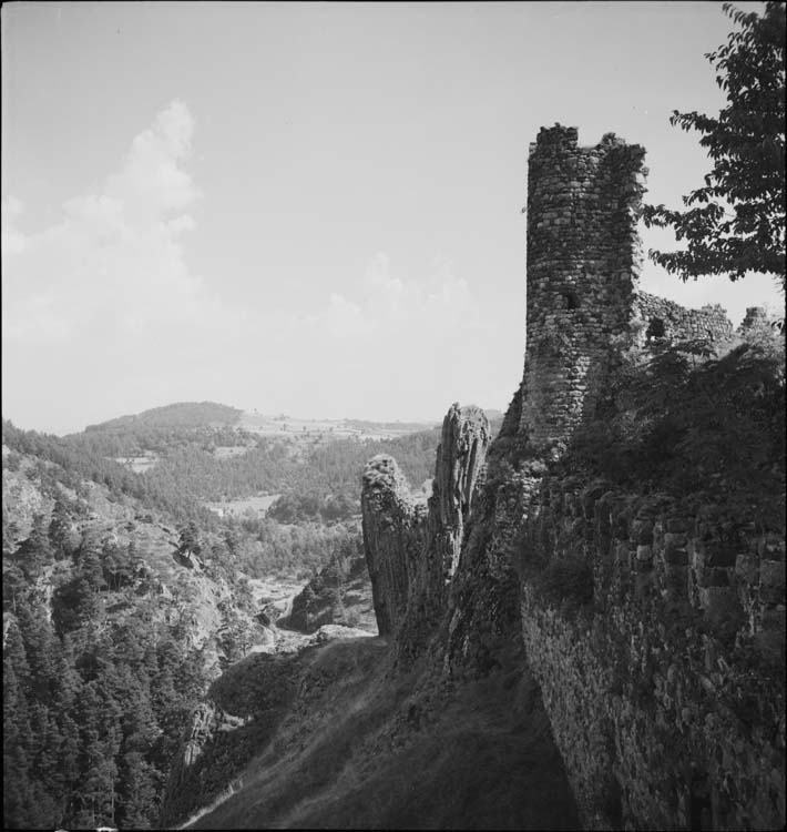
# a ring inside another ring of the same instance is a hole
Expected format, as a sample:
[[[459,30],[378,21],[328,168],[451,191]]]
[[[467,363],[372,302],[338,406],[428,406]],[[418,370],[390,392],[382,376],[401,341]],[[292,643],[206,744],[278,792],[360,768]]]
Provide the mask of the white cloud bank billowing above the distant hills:
[[[9,416],[73,429],[212,398],[315,416],[439,417],[468,374],[482,375],[478,361],[468,365],[476,298],[443,260],[410,277],[379,252],[356,276],[357,296],[329,292],[314,313],[208,291],[184,247],[203,196],[186,169],[193,131],[173,102],[103,187],[68,200],[41,231],[22,233],[22,203],[3,202]]]

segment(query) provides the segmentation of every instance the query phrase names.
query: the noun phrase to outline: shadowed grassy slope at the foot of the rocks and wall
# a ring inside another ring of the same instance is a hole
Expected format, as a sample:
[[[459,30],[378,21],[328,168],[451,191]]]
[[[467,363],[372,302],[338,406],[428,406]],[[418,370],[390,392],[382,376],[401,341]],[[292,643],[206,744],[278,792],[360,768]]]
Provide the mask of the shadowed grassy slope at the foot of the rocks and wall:
[[[318,649],[235,793],[188,828],[578,828],[527,672],[442,700],[418,671],[388,677],[387,655],[379,638]]]

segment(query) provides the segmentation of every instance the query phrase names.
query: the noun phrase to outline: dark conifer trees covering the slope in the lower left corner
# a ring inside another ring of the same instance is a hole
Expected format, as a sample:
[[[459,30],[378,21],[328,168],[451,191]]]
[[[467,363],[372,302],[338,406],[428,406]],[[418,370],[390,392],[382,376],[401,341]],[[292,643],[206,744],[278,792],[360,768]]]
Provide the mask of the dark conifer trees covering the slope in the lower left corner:
[[[38,518],[3,575],[4,828],[155,828],[205,658],[131,590],[133,552],[61,531]],[[37,582],[63,558],[50,607]],[[134,615],[108,613],[119,592]]]

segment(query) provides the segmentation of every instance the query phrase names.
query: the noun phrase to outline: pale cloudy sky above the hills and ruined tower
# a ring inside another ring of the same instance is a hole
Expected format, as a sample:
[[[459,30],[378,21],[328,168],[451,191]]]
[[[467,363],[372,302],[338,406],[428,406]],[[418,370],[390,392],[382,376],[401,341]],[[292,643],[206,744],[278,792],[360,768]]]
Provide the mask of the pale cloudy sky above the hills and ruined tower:
[[[738,7],[762,9],[762,3]],[[505,409],[522,374],[528,146],[711,164],[713,2],[2,6],[2,415],[64,434],[173,402],[303,418]],[[674,247],[643,230],[645,250]],[[773,278],[641,287],[781,308]]]

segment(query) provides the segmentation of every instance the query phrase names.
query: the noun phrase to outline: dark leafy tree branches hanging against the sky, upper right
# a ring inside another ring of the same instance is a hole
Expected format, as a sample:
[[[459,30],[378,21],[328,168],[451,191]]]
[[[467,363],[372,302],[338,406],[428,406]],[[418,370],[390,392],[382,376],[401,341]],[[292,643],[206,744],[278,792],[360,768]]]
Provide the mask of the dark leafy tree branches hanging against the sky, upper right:
[[[685,251],[650,256],[682,280],[746,272],[773,274],[785,285],[785,28],[784,2],[765,12],[724,10],[740,27],[706,58],[727,105],[712,118],[673,112],[671,123],[702,134],[713,170],[683,197],[686,211],[645,206],[647,225],[673,227]],[[730,213],[732,212],[732,213]]]

